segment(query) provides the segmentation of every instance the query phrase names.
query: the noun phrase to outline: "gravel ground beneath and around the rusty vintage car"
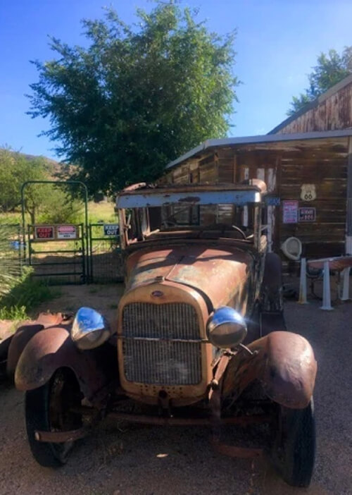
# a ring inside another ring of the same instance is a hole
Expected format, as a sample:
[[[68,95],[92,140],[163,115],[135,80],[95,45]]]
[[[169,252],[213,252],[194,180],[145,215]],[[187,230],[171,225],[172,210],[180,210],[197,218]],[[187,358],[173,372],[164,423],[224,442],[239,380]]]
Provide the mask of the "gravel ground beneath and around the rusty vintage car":
[[[121,288],[71,286],[63,288],[63,293],[49,303],[50,309],[72,311],[84,302],[113,315]],[[288,487],[265,459],[234,460],[214,453],[204,429],[122,426],[108,421],[77,445],[63,468],[41,468],[27,445],[23,394],[2,384],[0,494],[352,494],[352,399],[348,393],[352,304],[332,312],[318,308],[317,302],[286,305],[289,329],[310,340],[318,360],[318,453],[309,489]]]

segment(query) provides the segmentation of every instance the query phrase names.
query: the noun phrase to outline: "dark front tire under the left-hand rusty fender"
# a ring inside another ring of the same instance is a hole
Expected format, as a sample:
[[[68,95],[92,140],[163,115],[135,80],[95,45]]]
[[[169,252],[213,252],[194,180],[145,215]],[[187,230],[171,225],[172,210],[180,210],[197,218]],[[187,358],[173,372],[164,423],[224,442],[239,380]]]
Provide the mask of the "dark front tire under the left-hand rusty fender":
[[[72,408],[81,405],[82,394],[75,374],[68,368],[58,369],[48,383],[25,393],[25,422],[30,450],[37,463],[46,468],[65,464],[73,441],[61,444],[40,442],[39,431],[70,431],[82,426],[82,417]]]

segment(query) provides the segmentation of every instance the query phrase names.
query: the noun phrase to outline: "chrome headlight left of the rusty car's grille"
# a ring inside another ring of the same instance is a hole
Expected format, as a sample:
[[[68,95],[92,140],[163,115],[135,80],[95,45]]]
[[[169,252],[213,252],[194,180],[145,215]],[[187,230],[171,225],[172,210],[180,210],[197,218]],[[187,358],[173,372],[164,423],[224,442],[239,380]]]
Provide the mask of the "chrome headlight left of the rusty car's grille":
[[[91,307],[80,307],[71,329],[71,338],[77,348],[94,349],[110,337],[110,328],[106,319]]]

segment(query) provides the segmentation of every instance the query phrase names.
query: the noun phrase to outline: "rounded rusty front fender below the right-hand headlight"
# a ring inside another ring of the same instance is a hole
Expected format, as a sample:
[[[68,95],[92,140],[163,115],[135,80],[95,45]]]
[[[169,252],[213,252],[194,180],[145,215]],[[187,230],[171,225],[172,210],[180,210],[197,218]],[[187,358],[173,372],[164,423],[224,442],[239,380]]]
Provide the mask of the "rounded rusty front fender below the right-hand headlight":
[[[306,338],[288,331],[273,331],[248,347],[252,356],[241,351],[230,360],[223,396],[237,397],[251,381],[258,379],[272,401],[287,408],[306,408],[317,373],[313,349]]]

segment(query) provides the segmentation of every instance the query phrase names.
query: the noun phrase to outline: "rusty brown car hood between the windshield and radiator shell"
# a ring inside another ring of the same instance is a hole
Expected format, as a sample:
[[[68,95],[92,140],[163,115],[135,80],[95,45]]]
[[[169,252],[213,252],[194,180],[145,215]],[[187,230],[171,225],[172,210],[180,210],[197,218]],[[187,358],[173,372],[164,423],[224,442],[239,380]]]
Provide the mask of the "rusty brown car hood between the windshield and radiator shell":
[[[232,246],[138,250],[127,258],[127,290],[146,283],[172,281],[196,289],[210,310],[232,305],[244,312],[252,265],[250,252]]]

